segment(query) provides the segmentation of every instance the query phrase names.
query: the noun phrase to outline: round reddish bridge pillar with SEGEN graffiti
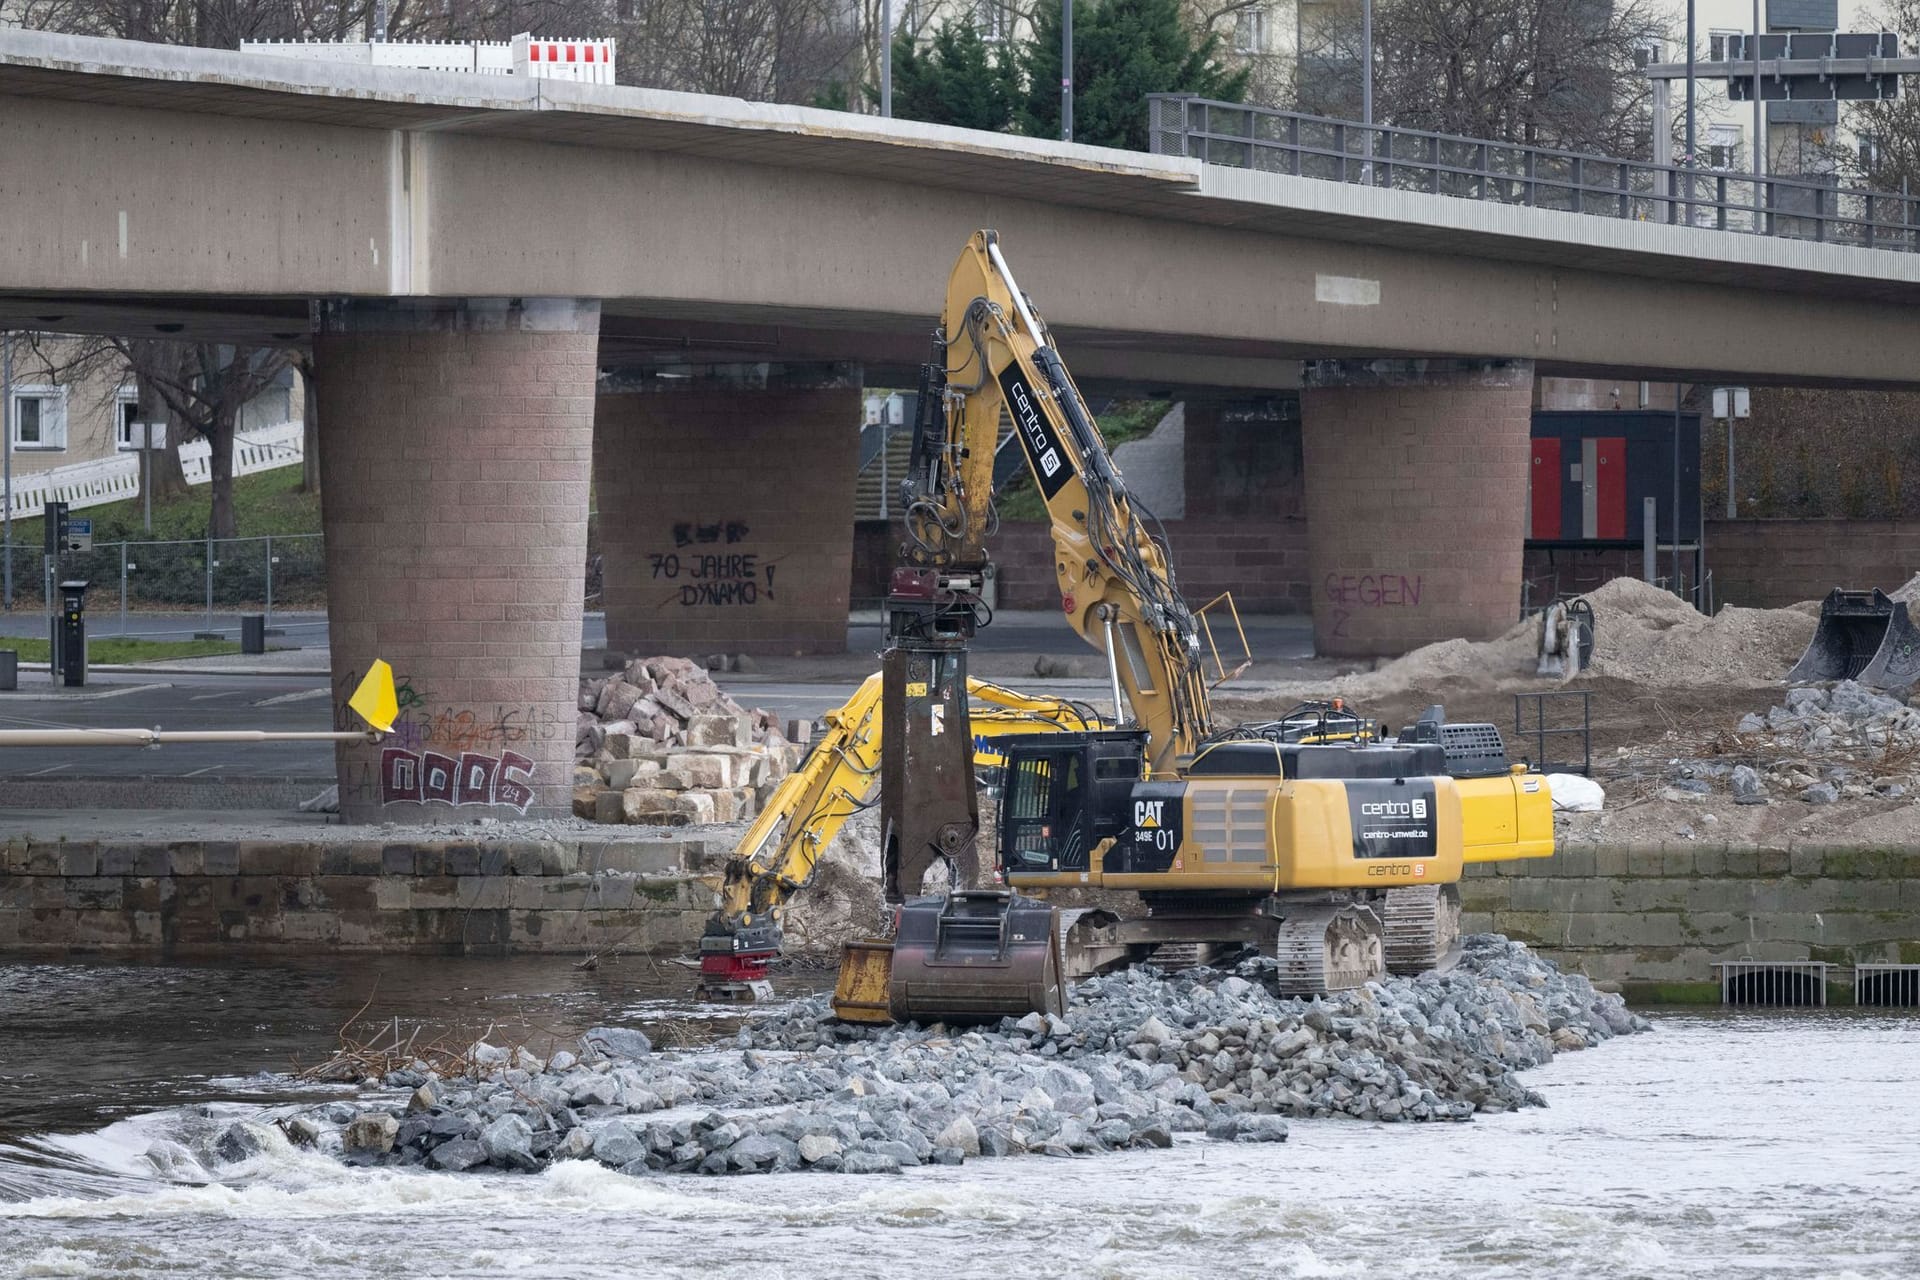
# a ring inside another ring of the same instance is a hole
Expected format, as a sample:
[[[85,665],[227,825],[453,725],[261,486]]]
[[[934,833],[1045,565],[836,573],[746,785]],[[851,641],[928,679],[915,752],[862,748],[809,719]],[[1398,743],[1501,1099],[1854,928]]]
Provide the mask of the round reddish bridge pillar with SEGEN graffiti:
[[[1513,626],[1532,361],[1311,361],[1300,393],[1313,647],[1402,654]]]

